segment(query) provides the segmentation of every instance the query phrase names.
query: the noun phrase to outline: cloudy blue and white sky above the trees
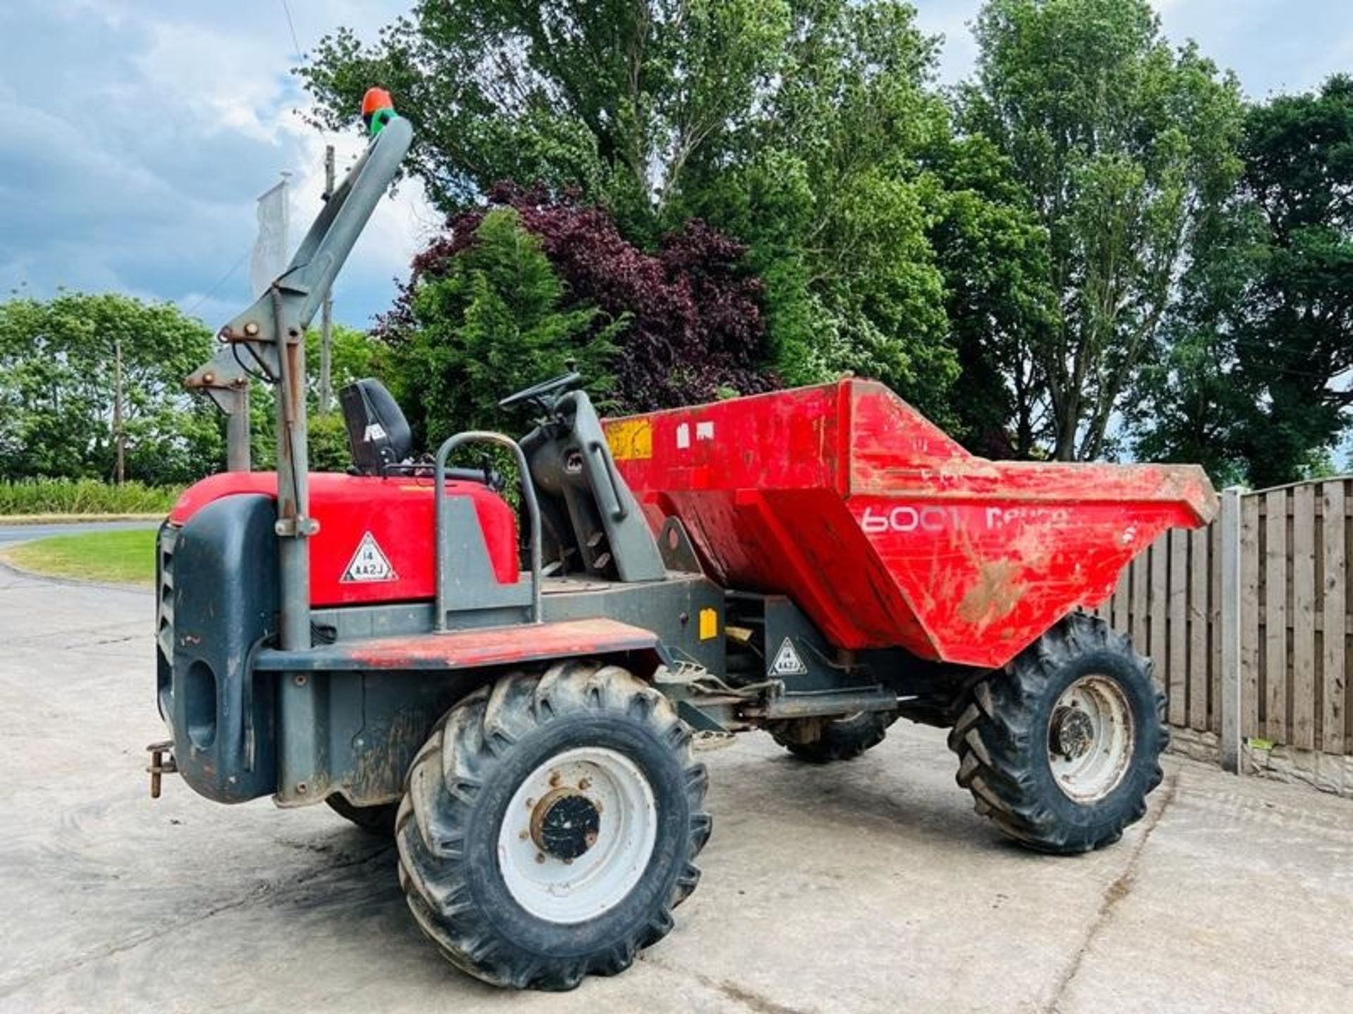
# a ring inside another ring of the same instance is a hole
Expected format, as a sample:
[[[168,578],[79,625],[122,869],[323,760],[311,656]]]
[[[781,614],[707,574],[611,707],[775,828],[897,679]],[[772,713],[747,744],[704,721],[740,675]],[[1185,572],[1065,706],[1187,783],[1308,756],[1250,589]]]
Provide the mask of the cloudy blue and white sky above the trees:
[[[0,296],[58,285],[168,299],[216,326],[249,299],[253,201],[292,173],[299,233],[318,207],[323,137],[296,108],[296,50],[338,24],[364,37],[409,0],[4,0],[0,5]],[[1353,0],[1155,0],[1252,96],[1353,70]],[[946,37],[943,81],[974,50],[978,0],[917,0]],[[334,291],[364,326],[436,227],[417,187],[386,201]]]

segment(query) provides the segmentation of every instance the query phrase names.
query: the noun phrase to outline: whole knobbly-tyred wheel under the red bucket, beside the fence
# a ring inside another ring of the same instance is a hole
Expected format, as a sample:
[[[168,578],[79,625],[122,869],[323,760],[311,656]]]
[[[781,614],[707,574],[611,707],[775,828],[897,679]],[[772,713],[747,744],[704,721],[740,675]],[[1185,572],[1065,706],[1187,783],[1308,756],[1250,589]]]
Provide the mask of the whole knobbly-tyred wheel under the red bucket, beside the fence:
[[[977,811],[1040,852],[1118,841],[1146,814],[1169,744],[1151,664],[1073,614],[970,691],[948,735]]]

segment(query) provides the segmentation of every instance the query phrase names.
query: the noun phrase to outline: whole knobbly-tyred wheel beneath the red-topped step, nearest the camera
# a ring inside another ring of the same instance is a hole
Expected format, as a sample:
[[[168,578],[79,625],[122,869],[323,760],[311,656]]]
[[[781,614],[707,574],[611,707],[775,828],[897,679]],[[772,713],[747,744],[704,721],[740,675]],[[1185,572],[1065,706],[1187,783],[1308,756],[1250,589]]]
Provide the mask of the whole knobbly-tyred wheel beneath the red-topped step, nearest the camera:
[[[675,708],[628,671],[505,676],[456,704],[409,769],[395,830],[409,907],[495,986],[621,972],[700,880],[706,784]]]

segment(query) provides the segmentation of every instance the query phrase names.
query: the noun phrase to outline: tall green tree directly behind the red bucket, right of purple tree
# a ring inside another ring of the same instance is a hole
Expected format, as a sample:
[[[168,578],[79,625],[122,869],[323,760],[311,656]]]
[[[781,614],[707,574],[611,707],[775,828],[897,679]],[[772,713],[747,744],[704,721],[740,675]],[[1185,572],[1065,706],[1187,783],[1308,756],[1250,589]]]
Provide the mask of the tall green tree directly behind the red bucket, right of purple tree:
[[[871,376],[951,420],[958,358],[919,161],[950,130],[927,89],[936,43],[890,0],[792,15],[775,85],[691,160],[681,208],[750,243],[786,383]]]

